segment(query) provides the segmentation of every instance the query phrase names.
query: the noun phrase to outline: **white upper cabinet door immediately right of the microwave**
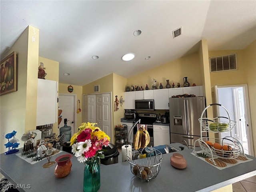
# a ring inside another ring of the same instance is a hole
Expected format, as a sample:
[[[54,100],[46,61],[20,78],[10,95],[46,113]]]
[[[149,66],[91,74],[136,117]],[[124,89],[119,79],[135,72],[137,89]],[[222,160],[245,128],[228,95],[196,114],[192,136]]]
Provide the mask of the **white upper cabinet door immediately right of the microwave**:
[[[168,89],[154,89],[155,109],[169,109]]]

